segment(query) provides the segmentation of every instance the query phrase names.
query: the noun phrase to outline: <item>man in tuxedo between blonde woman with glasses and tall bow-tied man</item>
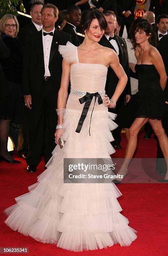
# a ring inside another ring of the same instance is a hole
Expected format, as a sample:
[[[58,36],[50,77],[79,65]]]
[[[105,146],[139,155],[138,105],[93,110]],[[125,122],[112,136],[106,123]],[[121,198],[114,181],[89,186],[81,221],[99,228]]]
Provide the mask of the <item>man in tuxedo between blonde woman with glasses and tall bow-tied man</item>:
[[[38,31],[42,29],[42,18],[41,18],[41,10],[43,7],[42,2],[35,2],[30,7],[30,15],[32,16],[32,21],[22,28],[18,34],[18,39],[22,46],[25,46],[28,38],[34,35]]]

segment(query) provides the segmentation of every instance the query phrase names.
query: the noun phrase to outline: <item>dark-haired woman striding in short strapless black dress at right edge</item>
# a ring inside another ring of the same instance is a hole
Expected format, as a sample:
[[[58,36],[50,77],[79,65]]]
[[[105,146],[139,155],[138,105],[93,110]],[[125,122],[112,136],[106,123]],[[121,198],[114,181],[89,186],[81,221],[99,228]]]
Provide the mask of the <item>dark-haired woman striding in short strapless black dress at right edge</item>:
[[[155,34],[148,22],[138,23],[135,28],[133,46],[137,59],[138,73],[138,111],[136,119],[129,129],[130,139],[126,147],[126,156],[119,174],[126,174],[129,161],[137,146],[137,136],[140,129],[149,122],[158,137],[168,170],[168,137],[163,129],[161,118],[164,114],[167,75],[163,60],[155,45]],[[168,171],[165,179],[168,182]],[[116,183],[120,183],[116,181]]]

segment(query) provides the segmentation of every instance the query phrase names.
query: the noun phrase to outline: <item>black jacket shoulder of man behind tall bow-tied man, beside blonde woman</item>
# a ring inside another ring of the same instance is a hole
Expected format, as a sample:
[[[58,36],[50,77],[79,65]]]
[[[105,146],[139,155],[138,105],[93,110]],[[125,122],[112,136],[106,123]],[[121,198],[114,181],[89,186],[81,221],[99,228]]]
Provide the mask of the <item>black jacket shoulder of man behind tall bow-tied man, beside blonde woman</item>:
[[[30,22],[27,26],[22,28],[18,34],[18,40],[20,44],[22,44],[22,46],[25,46],[27,40],[29,40],[29,38],[36,33],[38,33],[37,28],[32,22]]]

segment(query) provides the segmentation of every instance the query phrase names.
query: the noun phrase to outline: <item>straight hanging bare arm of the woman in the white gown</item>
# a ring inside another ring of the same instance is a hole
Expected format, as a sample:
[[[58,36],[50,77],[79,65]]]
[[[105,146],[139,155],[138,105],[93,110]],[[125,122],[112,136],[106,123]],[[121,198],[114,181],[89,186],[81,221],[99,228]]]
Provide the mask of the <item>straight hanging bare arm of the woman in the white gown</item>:
[[[58,92],[57,109],[62,111],[66,107],[68,97],[68,85],[69,85],[70,65],[63,59],[62,61],[62,77],[61,85]],[[58,115],[58,124],[63,124],[63,115]]]

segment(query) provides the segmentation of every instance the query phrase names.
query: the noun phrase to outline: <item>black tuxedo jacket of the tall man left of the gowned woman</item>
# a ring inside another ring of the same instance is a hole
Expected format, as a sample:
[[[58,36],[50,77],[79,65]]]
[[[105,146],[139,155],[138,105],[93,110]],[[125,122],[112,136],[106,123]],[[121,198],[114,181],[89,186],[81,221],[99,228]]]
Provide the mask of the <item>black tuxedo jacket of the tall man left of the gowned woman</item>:
[[[55,29],[49,56],[49,72],[56,90],[59,90],[62,75],[62,56],[59,45],[71,42],[71,36]],[[22,87],[24,95],[40,95],[44,84],[44,54],[42,31],[33,35],[27,42],[23,54]]]

